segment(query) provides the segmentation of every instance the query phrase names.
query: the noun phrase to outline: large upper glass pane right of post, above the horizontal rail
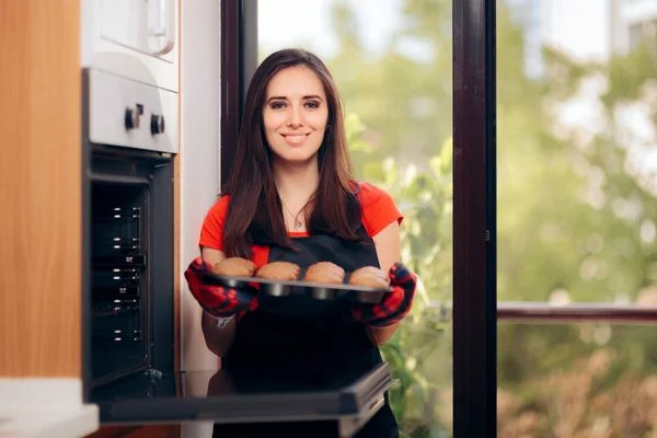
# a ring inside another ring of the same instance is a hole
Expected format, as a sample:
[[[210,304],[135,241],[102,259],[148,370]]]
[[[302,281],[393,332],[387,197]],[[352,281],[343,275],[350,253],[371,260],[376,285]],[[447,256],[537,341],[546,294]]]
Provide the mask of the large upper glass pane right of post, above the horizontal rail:
[[[498,2],[500,301],[652,299],[657,39],[630,41],[655,20],[653,0]]]

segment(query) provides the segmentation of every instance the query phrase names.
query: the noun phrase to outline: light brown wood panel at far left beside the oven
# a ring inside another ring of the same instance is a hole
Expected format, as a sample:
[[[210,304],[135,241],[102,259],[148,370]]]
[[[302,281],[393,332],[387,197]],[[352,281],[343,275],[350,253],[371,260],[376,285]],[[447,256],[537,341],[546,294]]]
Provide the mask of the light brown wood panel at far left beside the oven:
[[[80,377],[80,0],[0,0],[0,376]]]

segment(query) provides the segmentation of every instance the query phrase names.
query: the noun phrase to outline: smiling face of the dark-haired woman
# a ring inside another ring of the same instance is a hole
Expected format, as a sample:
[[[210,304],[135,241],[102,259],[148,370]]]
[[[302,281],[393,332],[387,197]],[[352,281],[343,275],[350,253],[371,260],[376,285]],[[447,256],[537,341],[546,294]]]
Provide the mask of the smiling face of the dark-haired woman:
[[[286,68],[269,80],[263,124],[267,143],[278,159],[300,163],[315,158],[327,120],[324,87],[308,67]]]

